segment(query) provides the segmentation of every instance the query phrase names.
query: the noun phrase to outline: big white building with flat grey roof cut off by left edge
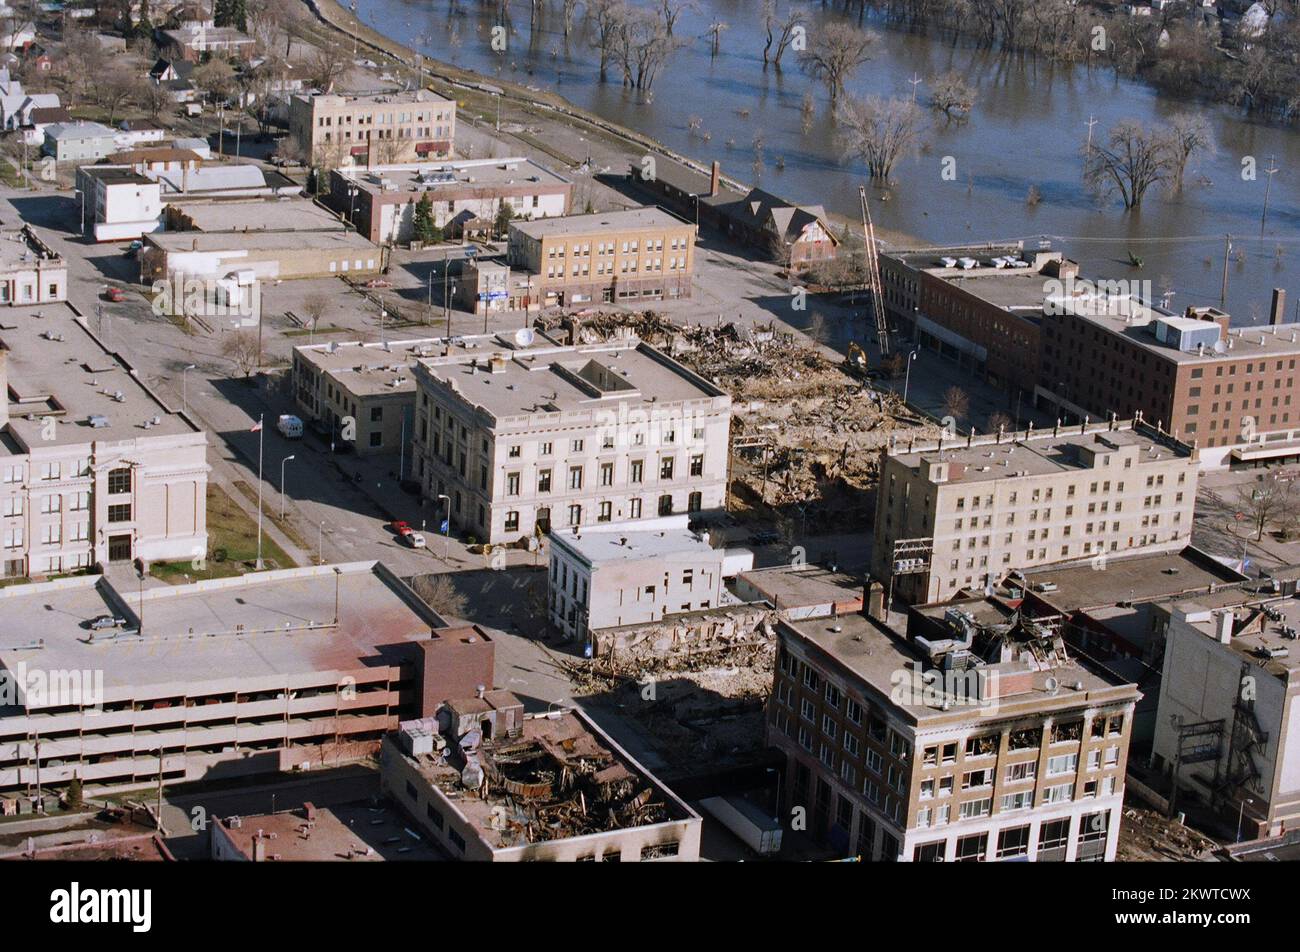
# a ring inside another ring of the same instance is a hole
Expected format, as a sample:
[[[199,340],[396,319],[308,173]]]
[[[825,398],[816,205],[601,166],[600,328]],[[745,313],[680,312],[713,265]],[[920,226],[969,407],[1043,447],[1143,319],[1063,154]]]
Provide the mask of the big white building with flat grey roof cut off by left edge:
[[[65,306],[0,329],[0,575],[207,555],[207,436]]]

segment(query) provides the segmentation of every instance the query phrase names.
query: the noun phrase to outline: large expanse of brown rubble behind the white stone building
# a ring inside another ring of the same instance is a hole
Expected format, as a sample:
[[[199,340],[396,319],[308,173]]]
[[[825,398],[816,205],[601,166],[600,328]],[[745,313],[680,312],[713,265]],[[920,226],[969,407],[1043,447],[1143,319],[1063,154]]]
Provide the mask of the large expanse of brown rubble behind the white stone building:
[[[546,330],[594,343],[636,334],[732,397],[737,460],[733,488],[755,509],[800,511],[810,531],[852,528],[870,512],[889,437],[932,440],[937,427],[914,416],[890,391],[792,332],[776,325],[676,324],[654,311],[585,311],[546,316]]]

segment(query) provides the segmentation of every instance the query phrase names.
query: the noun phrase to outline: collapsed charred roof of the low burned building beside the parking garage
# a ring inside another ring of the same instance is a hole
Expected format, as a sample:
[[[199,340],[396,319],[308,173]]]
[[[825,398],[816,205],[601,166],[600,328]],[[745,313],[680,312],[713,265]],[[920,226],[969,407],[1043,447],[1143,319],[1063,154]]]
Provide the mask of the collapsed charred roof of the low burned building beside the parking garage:
[[[526,718],[519,737],[480,750],[486,796],[467,796],[458,767],[437,754],[412,758],[389,736],[394,752],[451,800],[493,849],[510,849],[611,830],[699,819],[686,804],[575,710]],[[575,783],[562,787],[560,776]],[[503,782],[528,784],[532,796]],[[580,797],[581,795],[581,797]],[[644,802],[634,802],[644,797]]]

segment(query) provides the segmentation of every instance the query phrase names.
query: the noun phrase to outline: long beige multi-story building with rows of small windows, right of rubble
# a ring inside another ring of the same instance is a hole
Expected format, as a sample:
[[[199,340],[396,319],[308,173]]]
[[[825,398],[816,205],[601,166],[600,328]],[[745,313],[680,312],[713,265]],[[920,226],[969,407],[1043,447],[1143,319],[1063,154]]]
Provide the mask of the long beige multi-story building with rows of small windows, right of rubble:
[[[1197,472],[1195,447],[1140,420],[893,446],[872,576],[932,602],[1013,568],[1182,549]]]

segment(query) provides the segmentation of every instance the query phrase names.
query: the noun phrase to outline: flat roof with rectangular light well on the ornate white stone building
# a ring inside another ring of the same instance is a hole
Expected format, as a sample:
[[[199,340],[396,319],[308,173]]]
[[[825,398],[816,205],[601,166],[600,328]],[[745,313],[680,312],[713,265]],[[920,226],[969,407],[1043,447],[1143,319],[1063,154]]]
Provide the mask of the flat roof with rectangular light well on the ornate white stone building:
[[[489,368],[494,354],[503,358],[497,372]],[[421,359],[420,372],[454,388],[462,399],[495,419],[725,397],[636,338],[572,347],[485,349],[471,358]]]

